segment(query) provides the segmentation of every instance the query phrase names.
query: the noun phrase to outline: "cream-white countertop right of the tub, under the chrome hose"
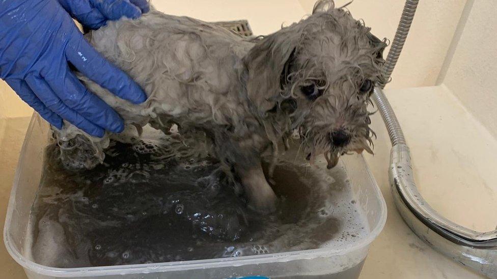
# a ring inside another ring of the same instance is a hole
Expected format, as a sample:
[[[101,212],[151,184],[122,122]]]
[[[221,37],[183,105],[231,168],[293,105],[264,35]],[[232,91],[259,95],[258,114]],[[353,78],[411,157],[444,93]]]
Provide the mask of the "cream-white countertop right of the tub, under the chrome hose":
[[[490,186],[495,173],[486,172],[485,165],[497,163],[487,152],[496,150],[495,139],[445,86],[387,89],[385,93],[402,125],[415,180],[425,200],[458,224],[493,230],[497,224],[497,189]],[[483,278],[434,251],[403,222],[388,180],[388,133],[379,113],[372,120],[378,136],[375,154],[365,157],[386,200],[388,217],[371,245],[360,278]]]

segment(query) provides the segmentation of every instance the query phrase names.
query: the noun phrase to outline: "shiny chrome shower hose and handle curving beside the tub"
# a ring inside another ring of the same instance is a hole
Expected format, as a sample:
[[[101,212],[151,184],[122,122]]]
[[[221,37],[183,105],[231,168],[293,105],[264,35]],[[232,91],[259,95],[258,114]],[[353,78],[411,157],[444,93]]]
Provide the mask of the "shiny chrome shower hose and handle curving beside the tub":
[[[453,260],[491,278],[497,278],[497,230],[477,232],[459,226],[436,212],[421,196],[414,181],[409,148],[400,123],[383,93],[397,64],[419,0],[407,0],[384,65],[384,79],[372,96],[388,130],[389,178],[395,205],[410,229]]]

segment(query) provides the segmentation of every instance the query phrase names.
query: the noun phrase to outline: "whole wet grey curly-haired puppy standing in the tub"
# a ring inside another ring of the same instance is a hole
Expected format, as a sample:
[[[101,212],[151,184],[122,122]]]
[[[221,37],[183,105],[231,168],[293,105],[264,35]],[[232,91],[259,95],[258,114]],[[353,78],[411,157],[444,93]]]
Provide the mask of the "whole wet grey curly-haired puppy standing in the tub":
[[[277,198],[261,153],[270,150],[275,162],[293,131],[308,159],[324,154],[328,167],[346,152],[371,152],[367,107],[382,77],[385,43],[333,1],[318,1],[312,15],[266,37],[242,38],[211,23],[151,11],[110,22],[87,39],[138,82],[148,100],[132,105],[80,76],[123,117],[126,129],[103,139],[69,123],[54,129],[67,166],[94,167],[109,138],[135,142],[147,123],[164,133],[176,124],[181,134],[205,134],[250,205],[271,211]]]

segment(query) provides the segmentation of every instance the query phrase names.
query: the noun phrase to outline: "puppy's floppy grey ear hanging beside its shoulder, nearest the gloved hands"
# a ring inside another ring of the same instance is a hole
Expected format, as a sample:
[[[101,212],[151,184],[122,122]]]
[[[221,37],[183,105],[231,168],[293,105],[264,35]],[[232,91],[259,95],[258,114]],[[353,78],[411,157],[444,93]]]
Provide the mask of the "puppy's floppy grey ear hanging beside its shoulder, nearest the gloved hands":
[[[261,116],[287,98],[282,96],[282,89],[290,82],[296,55],[296,39],[291,35],[283,30],[271,34],[258,41],[244,58],[248,99]]]

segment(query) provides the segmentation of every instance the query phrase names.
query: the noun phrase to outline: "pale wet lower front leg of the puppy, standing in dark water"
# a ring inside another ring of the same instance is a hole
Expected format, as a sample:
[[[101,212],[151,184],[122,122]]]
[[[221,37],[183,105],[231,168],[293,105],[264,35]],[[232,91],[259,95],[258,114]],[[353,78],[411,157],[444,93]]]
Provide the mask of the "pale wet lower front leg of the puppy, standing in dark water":
[[[252,209],[270,213],[276,210],[278,198],[267,183],[260,161],[248,168],[238,169],[241,183]]]

